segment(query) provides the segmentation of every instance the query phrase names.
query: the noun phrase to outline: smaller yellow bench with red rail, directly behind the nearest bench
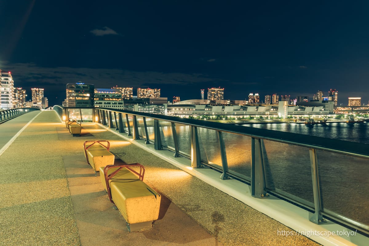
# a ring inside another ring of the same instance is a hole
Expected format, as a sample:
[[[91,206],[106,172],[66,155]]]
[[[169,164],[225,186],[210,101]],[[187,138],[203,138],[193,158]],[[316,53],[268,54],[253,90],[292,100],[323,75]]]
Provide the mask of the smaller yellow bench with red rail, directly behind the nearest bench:
[[[107,140],[86,141],[83,143],[85,148],[85,157],[87,163],[95,172],[100,170],[100,167],[113,165],[115,156],[110,153],[110,142]]]

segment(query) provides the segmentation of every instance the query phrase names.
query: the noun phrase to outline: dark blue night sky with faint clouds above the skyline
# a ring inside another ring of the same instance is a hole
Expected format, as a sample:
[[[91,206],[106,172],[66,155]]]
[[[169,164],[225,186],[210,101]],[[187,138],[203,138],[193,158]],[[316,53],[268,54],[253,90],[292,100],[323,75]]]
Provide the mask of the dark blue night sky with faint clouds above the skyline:
[[[0,1],[0,69],[16,87],[160,88],[200,98],[224,88],[369,100],[369,1]],[[30,97],[28,99],[31,99]]]

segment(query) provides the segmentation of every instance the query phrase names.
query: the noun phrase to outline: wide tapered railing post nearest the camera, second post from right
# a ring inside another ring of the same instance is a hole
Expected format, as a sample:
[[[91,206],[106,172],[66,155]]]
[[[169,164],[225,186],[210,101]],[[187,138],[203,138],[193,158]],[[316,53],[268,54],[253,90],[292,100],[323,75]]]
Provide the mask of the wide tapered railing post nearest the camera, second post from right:
[[[269,196],[265,191],[262,139],[260,138],[251,138],[251,195],[256,198]]]

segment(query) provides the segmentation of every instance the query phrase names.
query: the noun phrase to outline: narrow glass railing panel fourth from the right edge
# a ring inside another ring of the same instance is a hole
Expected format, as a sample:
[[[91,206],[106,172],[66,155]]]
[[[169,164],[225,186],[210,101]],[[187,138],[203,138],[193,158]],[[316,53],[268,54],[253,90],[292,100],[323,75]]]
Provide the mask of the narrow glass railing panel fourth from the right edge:
[[[199,135],[201,161],[209,165],[216,165],[223,170],[218,132],[197,127],[197,133]]]

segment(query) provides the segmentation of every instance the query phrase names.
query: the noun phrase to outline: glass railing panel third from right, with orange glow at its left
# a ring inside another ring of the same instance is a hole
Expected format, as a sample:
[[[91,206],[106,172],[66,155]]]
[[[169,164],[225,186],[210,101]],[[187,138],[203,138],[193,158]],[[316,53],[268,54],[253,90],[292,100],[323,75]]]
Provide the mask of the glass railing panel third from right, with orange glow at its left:
[[[251,137],[223,132],[228,170],[251,181]]]

